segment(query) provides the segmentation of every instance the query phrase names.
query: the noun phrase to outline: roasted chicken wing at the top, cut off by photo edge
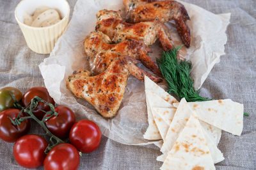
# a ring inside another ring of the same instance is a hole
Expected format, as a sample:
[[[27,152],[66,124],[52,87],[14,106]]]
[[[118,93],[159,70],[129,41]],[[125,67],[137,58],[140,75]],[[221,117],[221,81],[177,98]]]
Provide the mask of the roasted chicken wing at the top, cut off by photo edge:
[[[127,22],[137,23],[148,20],[159,20],[165,23],[175,21],[175,26],[182,42],[190,46],[190,31],[186,24],[188,12],[183,4],[177,1],[123,0],[127,12]]]

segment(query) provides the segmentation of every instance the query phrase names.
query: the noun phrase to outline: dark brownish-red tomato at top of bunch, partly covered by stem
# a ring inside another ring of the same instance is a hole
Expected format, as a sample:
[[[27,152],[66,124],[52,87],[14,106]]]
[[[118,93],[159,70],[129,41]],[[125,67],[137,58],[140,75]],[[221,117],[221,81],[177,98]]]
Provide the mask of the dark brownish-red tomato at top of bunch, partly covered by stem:
[[[51,98],[51,96],[49,95],[46,88],[34,87],[24,93],[24,95],[22,96],[22,105],[23,106],[28,105],[29,102],[31,102],[31,100],[34,97],[40,97],[40,98],[44,99],[47,103],[51,103],[53,105],[55,104],[53,98]],[[49,107],[49,105],[46,105],[43,102],[39,102],[36,109],[33,111],[33,114],[35,114],[36,118],[38,118],[39,120],[42,120],[45,112],[40,111],[40,110],[49,111],[50,107]]]

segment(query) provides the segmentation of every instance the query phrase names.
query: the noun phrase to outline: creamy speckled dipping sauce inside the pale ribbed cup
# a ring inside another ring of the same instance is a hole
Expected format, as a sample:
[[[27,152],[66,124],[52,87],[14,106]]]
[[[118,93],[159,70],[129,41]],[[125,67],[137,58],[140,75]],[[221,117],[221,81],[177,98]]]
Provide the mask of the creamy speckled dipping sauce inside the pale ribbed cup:
[[[40,6],[36,8],[32,15],[25,12],[23,15],[24,24],[32,27],[47,27],[60,22],[61,16],[57,10],[48,6]]]

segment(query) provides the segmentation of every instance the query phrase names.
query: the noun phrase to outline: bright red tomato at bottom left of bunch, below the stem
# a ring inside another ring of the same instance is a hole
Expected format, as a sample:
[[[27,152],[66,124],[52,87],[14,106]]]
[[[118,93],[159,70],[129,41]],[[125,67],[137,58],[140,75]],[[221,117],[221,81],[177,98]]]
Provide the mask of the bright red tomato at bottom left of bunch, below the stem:
[[[26,168],[42,166],[48,143],[40,135],[24,135],[17,140],[13,147],[13,155],[18,164]]]

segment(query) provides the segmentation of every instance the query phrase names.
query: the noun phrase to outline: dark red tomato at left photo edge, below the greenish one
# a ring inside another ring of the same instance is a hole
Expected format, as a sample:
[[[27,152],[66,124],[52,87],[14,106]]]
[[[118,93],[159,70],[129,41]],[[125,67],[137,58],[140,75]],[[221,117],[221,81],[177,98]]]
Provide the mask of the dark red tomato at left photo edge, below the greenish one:
[[[22,135],[27,134],[30,129],[29,120],[22,121],[19,128],[12,124],[9,118],[15,120],[19,112],[19,109],[7,109],[0,113],[0,138],[8,143],[14,143]],[[21,113],[20,117],[24,117],[24,114]]]

